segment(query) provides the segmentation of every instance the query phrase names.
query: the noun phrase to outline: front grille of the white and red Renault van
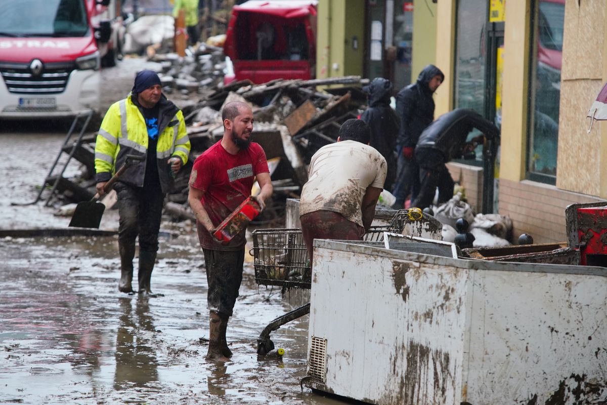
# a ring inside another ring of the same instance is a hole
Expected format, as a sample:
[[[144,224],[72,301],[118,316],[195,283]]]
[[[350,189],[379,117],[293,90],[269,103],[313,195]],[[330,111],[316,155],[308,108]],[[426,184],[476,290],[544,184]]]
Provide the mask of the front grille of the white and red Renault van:
[[[67,86],[76,65],[70,62],[46,63],[36,75],[30,64],[0,62],[0,74],[13,94],[58,94]]]

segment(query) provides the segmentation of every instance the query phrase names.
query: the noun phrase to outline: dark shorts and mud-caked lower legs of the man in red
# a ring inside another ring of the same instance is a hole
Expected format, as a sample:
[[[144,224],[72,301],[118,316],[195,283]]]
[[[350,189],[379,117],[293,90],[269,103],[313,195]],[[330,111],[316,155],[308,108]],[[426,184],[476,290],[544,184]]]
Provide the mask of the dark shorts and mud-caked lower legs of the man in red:
[[[203,249],[205,254],[207,304],[209,307],[208,361],[228,361],[232,356],[226,340],[228,320],[234,310],[242,283],[245,250]]]

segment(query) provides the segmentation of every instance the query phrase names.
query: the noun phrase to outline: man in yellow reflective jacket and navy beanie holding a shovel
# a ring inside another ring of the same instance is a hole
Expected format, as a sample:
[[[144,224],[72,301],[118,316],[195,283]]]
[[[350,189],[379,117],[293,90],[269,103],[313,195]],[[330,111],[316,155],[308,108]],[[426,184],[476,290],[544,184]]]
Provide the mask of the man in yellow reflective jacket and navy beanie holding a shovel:
[[[190,142],[180,109],[162,94],[155,72],[137,73],[131,94],[107,110],[95,143],[95,179],[103,186],[127,155],[144,157],[114,183],[118,194],[118,290],[133,291],[135,238],[139,236],[138,292],[151,294],[164,195],[181,166],[188,162]]]

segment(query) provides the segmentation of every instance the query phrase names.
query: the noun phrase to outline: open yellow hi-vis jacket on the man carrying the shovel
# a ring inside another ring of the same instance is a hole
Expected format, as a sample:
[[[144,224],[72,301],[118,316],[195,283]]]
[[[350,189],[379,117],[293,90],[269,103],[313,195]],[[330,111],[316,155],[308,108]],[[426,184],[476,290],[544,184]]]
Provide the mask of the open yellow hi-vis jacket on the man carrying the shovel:
[[[95,180],[107,182],[118,168],[124,165],[126,155],[142,156],[143,160],[126,169],[120,182],[142,187],[146,172],[148,128],[132,100],[132,95],[112,104],[107,110],[95,142]],[[158,108],[158,145],[156,163],[163,192],[169,190],[172,180],[169,158],[178,157],[183,165],[188,162],[190,142],[180,109],[161,96]],[[182,167],[183,167],[182,165]]]

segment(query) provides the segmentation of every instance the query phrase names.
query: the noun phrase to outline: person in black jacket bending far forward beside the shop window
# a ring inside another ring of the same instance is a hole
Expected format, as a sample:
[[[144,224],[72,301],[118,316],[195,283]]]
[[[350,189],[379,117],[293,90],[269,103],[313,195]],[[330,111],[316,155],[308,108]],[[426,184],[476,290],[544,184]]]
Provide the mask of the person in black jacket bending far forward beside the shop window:
[[[468,134],[474,128],[483,132],[483,135],[466,142]],[[473,158],[474,149],[483,141],[483,137],[497,140],[499,135],[500,130],[495,125],[470,109],[456,108],[438,117],[419,135],[415,147],[421,186],[411,206],[421,209],[429,206],[437,186],[439,205],[453,197],[455,183],[445,163],[461,156]]]

